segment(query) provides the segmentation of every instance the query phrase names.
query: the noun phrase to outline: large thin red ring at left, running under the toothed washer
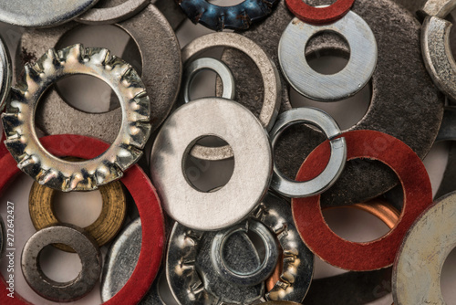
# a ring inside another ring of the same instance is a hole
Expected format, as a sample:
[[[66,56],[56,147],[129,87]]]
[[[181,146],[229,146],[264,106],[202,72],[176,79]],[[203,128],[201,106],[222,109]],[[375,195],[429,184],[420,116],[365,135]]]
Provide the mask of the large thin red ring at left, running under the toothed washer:
[[[56,156],[74,156],[91,159],[106,151],[109,144],[100,140],[79,135],[53,135],[40,139],[49,153]],[[0,193],[12,183],[20,170],[11,154],[0,159]],[[159,197],[140,166],[134,165],[124,173],[120,180],[132,195],[140,212],[142,225],[142,247],[138,264],[127,284],[104,304],[137,304],[157,275],[161,264],[165,243],[164,219]],[[20,252],[17,252],[17,254]],[[15,298],[7,296],[5,279],[0,277],[0,304],[31,304],[21,298],[15,291]]]

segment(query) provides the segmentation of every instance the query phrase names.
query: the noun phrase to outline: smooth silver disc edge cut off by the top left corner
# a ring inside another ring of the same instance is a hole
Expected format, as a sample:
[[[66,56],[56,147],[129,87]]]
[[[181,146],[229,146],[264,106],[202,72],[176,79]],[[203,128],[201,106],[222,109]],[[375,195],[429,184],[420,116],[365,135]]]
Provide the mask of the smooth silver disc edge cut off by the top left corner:
[[[57,26],[86,12],[98,0],[2,0],[0,21],[15,26]]]

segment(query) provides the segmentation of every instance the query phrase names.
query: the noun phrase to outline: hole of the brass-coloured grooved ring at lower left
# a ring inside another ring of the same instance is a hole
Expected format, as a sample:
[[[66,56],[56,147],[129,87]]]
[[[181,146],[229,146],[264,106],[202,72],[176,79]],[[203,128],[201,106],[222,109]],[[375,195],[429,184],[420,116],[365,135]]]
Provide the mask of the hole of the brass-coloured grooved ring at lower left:
[[[101,214],[102,200],[99,191],[56,192],[52,206],[60,222],[86,227]]]

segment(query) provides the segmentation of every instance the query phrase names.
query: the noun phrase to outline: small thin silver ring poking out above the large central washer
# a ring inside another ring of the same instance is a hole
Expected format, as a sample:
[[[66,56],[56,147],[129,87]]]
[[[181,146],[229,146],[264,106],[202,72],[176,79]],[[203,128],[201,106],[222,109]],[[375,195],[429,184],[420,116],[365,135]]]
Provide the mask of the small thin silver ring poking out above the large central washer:
[[[223,61],[215,58],[198,58],[193,60],[184,68],[182,83],[183,83],[183,100],[188,103],[190,101],[190,89],[192,81],[196,75],[203,70],[212,70],[222,79],[223,93],[222,98],[233,100],[236,93],[235,80],[231,69],[226,67]]]

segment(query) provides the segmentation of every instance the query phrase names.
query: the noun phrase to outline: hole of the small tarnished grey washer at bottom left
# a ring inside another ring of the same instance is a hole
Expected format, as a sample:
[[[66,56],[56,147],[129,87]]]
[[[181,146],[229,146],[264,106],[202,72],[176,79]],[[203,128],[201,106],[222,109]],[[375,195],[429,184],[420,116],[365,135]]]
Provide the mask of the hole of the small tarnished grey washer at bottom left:
[[[63,283],[76,279],[82,264],[77,253],[68,253],[48,245],[39,253],[38,262],[47,278]]]

